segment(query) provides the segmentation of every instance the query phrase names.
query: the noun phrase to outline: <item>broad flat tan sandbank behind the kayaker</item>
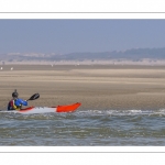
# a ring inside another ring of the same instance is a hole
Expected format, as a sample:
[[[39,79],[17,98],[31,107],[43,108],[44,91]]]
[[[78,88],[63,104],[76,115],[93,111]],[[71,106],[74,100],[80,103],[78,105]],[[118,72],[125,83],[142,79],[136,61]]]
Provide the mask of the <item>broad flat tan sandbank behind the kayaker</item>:
[[[29,99],[29,106],[52,107],[81,102],[82,110],[165,108],[164,66],[116,65],[3,65],[0,70],[0,109],[11,94]],[[13,67],[13,70],[11,70]]]

